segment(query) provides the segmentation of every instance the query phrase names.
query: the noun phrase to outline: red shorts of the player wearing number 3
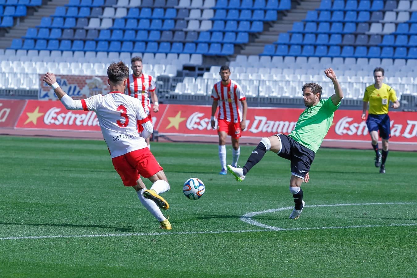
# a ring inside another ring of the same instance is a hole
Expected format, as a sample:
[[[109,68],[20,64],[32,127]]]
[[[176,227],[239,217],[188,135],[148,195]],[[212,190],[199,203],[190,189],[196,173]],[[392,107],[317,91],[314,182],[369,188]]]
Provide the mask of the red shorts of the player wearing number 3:
[[[149,178],[163,170],[149,148],[133,150],[116,156],[111,161],[125,186],[135,186],[141,175],[143,178]]]

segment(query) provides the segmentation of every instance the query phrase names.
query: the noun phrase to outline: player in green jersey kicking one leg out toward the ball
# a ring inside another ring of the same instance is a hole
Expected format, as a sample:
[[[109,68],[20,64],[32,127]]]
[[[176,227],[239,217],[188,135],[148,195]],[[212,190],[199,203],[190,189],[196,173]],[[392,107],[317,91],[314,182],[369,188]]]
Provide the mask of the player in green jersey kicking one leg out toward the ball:
[[[324,74],[332,80],[334,94],[327,100],[322,100],[322,87],[316,83],[304,84],[304,110],[289,135],[275,134],[269,138],[262,138],[249,156],[243,168],[227,165],[227,169],[236,180],[242,181],[252,167],[264,157],[266,151],[271,150],[282,158],[291,161],[291,179],[289,190],[294,197],[295,207],[289,218],[299,218],[304,208],[303,190],[301,183],[309,181],[309,170],[314,155],[323,142],[333,122],[334,111],[340,106],[343,98],[342,88],[337,81],[332,68],[324,70]]]

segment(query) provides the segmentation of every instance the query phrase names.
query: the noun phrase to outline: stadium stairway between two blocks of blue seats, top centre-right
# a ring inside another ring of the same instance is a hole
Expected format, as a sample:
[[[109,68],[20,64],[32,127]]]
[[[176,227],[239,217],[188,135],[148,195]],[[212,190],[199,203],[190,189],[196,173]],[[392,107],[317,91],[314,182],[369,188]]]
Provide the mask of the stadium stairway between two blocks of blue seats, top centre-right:
[[[291,30],[292,25],[296,21],[300,21],[306,17],[307,11],[319,8],[321,0],[300,0],[291,1],[292,8],[290,11],[284,12],[284,16],[277,20],[272,26],[261,33],[258,38],[244,46],[239,51],[235,50],[234,58],[236,55],[259,55],[264,51],[266,44],[271,44],[276,41],[279,33],[285,33]],[[231,59],[234,60],[234,59]]]

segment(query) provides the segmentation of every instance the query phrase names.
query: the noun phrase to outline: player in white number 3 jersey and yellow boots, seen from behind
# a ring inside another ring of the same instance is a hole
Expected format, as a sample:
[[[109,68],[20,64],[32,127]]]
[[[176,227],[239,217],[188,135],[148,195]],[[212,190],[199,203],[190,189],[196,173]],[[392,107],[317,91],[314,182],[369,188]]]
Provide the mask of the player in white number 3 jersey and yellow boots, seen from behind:
[[[140,101],[123,94],[129,68],[123,62],[112,63],[107,68],[107,75],[110,93],[82,100],[73,100],[67,95],[56,83],[53,73],[46,73],[43,81],[54,89],[68,110],[95,112],[114,168],[123,185],[136,190],[143,206],[161,223],[159,228],[171,230],[171,223],[160,210],[168,209],[169,204],[159,195],[168,191],[170,186],[161,165],[145,142],[145,138],[153,132],[153,126]],[[140,134],[137,125],[143,128]],[[146,189],[141,175],[151,180],[151,189]]]

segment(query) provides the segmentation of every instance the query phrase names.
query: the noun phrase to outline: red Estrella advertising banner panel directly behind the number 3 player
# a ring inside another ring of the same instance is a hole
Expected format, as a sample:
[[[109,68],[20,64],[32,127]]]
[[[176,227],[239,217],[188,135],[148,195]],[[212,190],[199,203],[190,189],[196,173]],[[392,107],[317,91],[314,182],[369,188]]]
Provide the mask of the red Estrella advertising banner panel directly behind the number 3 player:
[[[166,105],[161,104],[159,112],[151,114],[155,125],[165,108]],[[67,110],[58,100],[28,100],[16,128],[100,131],[94,111]]]

